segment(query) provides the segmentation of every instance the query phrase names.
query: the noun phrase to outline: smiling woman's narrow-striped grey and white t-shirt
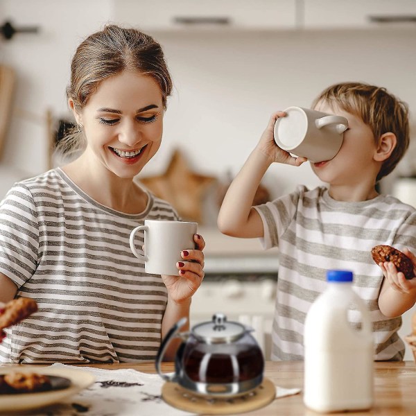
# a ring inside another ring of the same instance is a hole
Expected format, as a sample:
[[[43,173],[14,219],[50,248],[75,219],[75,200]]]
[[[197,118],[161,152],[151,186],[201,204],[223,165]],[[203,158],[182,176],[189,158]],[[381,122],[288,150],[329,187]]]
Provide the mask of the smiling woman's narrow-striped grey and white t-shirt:
[[[15,184],[0,204],[0,272],[39,311],[7,331],[0,361],[153,360],[167,291],[129,245],[146,218],[178,216],[150,193],[141,214],[105,207],[60,168]]]

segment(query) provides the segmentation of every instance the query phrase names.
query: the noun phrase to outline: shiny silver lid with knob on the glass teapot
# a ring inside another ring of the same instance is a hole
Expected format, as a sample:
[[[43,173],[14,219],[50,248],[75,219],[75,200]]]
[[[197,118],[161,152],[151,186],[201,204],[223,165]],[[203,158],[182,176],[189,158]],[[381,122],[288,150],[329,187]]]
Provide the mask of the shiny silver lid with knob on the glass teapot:
[[[246,331],[245,326],[239,322],[227,322],[223,313],[216,313],[212,322],[202,322],[192,328],[193,335],[207,344],[232,343]]]

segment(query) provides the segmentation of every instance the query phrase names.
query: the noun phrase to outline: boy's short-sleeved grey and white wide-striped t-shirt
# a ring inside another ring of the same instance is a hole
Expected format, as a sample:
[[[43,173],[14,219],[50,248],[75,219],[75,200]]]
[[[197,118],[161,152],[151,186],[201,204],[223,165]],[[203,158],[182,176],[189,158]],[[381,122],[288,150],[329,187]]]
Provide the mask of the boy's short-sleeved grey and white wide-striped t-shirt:
[[[327,270],[342,269],[354,272],[354,290],[370,310],[374,359],[402,360],[404,343],[397,334],[401,318],[386,318],[379,309],[383,273],[371,249],[387,244],[415,252],[416,210],[384,195],[340,202],[325,187],[299,187],[256,209],[263,221],[264,247],[279,247],[272,359],[303,359],[306,313],[327,286]],[[350,311],[349,319],[359,326],[358,312]]]

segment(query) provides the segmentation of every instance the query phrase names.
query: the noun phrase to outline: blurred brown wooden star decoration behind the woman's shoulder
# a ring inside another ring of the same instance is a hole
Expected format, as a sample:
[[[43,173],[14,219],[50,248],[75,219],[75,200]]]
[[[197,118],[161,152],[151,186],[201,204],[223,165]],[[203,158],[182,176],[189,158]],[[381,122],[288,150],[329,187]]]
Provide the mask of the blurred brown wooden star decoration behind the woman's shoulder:
[[[191,171],[179,150],[173,152],[163,175],[141,177],[139,180],[155,196],[170,202],[183,220],[203,223],[202,200],[216,178]]]

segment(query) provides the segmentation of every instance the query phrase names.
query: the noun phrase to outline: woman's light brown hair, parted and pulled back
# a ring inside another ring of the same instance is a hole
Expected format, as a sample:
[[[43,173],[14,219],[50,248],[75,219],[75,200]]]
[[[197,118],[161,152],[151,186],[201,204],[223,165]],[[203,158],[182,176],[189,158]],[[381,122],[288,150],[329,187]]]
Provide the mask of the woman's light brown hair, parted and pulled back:
[[[123,71],[153,78],[160,87],[166,109],[173,83],[162,46],[146,33],[114,24],[107,24],[102,31],[89,35],[76,49],[67,98],[72,98],[75,109],[80,111],[103,80]],[[84,150],[85,145],[85,137],[76,127],[60,140],[57,153],[70,158]]]

